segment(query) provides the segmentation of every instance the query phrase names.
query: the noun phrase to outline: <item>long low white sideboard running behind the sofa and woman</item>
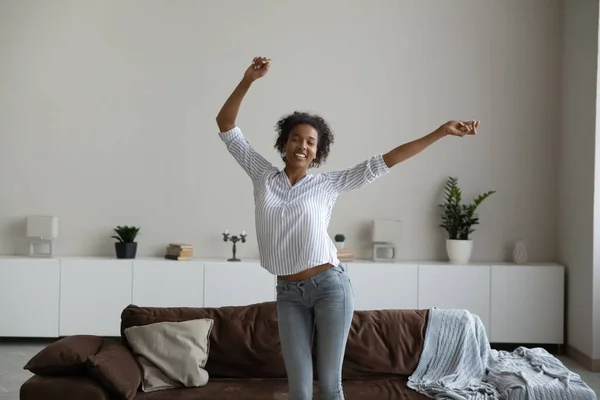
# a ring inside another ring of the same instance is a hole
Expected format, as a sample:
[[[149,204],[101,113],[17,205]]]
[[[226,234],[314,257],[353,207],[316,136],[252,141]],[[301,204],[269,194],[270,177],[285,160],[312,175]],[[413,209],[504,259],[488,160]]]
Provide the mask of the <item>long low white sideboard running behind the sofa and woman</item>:
[[[495,343],[562,344],[556,264],[345,264],[357,310],[465,308]],[[258,261],[0,258],[0,337],[118,336],[129,304],[221,307],[275,300]]]

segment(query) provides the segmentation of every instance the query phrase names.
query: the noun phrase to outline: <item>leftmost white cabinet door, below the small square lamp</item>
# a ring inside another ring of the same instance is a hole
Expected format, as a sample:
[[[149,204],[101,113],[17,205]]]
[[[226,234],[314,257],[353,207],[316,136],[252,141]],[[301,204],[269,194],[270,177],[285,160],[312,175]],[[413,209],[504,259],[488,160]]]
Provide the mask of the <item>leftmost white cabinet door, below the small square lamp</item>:
[[[0,336],[58,337],[58,260],[0,259]]]

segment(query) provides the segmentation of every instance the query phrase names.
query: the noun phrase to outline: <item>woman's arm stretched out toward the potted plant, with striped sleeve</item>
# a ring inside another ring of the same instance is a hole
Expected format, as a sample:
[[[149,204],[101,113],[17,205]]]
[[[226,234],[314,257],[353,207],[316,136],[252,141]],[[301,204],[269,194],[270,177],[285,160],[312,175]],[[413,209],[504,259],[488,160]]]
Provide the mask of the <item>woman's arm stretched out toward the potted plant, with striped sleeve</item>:
[[[474,135],[478,127],[479,121],[450,121],[430,134],[400,145],[383,155],[370,157],[351,168],[328,172],[325,175],[337,192],[359,189],[388,173],[393,166],[422,152],[444,136]]]

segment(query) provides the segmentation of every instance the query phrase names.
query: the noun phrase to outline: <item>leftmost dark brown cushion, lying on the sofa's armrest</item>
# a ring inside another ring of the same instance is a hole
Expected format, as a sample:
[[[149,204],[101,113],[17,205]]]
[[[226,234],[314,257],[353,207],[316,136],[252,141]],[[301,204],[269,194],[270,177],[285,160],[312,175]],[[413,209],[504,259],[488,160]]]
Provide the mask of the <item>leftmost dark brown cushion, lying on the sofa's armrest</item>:
[[[98,353],[102,342],[98,336],[67,336],[44,347],[23,369],[42,376],[84,374],[87,358]]]

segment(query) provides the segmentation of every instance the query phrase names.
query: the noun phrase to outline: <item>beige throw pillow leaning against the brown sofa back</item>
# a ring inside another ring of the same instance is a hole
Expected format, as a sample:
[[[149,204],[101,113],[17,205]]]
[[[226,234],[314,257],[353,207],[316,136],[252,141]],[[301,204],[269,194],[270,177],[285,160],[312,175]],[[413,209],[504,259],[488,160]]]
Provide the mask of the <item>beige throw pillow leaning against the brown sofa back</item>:
[[[142,390],[200,387],[208,383],[204,369],[214,321],[203,318],[157,322],[125,329],[143,370]]]

